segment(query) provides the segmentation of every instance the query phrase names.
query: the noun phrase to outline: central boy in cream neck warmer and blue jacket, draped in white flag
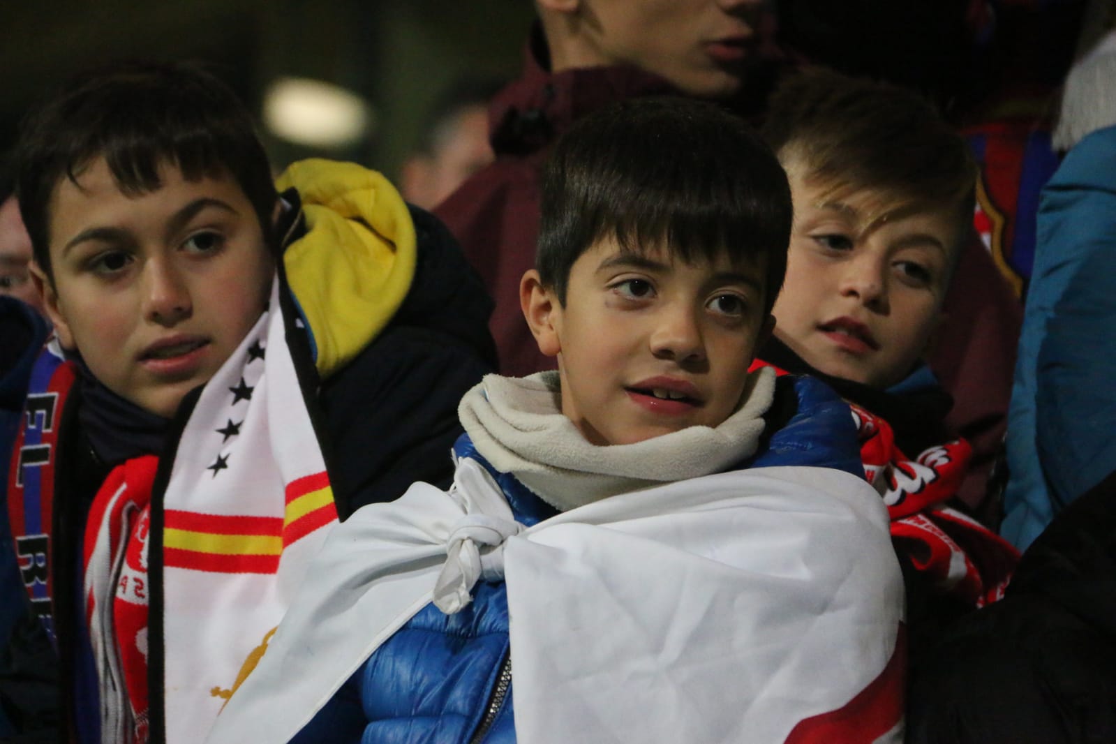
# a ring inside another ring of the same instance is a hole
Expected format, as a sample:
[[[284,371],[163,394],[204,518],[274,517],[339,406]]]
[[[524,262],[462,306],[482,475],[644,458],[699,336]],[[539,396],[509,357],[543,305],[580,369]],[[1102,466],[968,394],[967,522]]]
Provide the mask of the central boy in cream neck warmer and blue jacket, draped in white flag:
[[[210,741],[897,741],[899,574],[848,408],[747,374],[778,162],[648,98],[571,127],[542,186],[520,291],[558,370],[487,376],[453,487],[331,535]]]

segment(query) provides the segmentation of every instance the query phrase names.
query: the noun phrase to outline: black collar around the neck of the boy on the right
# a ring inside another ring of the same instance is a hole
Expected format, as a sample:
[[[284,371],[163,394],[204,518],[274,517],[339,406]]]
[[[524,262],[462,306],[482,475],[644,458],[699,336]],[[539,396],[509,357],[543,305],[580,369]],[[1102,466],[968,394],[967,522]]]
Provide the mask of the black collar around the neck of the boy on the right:
[[[936,381],[924,386],[899,384],[881,390],[818,371],[775,337],[771,337],[758,356],[791,374],[816,377],[846,400],[883,417],[895,433],[895,443],[908,457],[915,457],[927,447],[953,438],[944,423],[945,415],[953,407],[953,398]],[[912,375],[920,368],[921,365],[912,370]]]

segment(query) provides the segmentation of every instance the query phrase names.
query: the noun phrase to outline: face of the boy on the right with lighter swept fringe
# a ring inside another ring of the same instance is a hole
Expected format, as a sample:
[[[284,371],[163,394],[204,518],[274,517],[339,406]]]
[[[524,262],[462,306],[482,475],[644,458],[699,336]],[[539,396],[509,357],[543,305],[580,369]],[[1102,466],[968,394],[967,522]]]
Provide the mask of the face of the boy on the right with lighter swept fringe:
[[[955,206],[888,212],[887,192],[840,199],[787,162],[795,225],[775,335],[815,369],[886,388],[929,350],[961,247]]]

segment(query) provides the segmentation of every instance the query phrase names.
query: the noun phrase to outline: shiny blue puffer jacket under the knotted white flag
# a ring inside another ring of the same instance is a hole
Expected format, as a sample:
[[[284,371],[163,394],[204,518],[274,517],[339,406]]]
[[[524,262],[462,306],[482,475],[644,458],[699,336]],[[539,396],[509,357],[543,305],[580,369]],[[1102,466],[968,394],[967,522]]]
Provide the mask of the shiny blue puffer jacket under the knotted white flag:
[[[743,467],[835,467],[864,476],[848,406],[826,385],[782,377],[760,451]],[[494,471],[468,435],[454,446],[482,463],[516,519],[530,526],[556,510]],[[479,582],[455,615],[427,605],[381,646],[292,741],[415,744],[516,741],[504,583]],[[354,631],[358,631],[354,629]]]

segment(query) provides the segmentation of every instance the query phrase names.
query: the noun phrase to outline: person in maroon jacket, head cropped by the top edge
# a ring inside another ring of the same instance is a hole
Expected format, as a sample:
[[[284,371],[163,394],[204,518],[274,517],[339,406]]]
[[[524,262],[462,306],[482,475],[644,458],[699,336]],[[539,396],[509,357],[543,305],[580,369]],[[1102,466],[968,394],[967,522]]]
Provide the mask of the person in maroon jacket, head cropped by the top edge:
[[[608,104],[654,95],[731,100],[756,114],[770,89],[775,9],[768,0],[533,0],[519,79],[492,100],[494,163],[435,213],[461,241],[496,301],[500,373],[552,369],[519,310],[535,265],[542,164],[575,122]]]

